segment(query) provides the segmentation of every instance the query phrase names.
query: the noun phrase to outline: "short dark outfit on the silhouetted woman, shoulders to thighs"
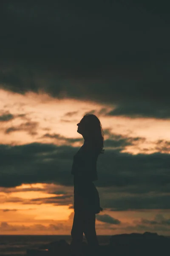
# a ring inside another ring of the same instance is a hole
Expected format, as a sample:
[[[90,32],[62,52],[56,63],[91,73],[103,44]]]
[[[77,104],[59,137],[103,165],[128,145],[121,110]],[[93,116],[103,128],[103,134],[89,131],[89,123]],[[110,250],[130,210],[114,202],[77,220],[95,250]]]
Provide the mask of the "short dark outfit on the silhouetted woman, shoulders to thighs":
[[[97,180],[96,162],[99,153],[84,143],[74,155],[71,174],[74,175],[74,211],[102,212],[99,192],[93,181]]]

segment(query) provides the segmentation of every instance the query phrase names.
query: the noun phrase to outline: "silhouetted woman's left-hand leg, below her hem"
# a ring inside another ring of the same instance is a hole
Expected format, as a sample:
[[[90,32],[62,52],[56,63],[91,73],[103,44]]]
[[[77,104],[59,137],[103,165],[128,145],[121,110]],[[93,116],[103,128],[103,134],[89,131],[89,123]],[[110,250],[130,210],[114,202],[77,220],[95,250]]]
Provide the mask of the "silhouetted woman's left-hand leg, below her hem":
[[[73,226],[71,229],[71,252],[75,255],[82,253],[82,239],[83,239],[83,219],[79,211],[74,211]]]

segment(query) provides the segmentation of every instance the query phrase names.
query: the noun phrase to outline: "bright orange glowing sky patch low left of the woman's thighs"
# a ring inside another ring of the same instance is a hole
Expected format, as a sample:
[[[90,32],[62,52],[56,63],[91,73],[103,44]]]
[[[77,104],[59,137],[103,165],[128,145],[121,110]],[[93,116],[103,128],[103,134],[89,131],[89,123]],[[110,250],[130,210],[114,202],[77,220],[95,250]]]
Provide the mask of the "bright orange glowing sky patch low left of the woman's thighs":
[[[43,189],[42,191],[25,191],[25,189]],[[68,220],[73,209],[69,205],[56,205],[57,203],[45,204],[32,202],[31,199],[62,197],[62,192],[53,194],[52,191],[64,189],[64,186],[51,184],[22,184],[16,188],[4,189],[0,192],[0,220],[8,222],[35,223],[38,221]],[[14,201],[13,201],[14,200]],[[30,203],[29,203],[30,202]]]

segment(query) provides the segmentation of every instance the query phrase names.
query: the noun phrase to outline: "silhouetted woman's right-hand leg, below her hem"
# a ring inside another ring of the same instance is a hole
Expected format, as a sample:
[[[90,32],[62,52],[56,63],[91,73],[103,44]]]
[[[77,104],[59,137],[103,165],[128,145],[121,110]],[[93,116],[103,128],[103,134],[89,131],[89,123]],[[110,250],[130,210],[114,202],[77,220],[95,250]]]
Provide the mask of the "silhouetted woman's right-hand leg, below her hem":
[[[88,246],[92,255],[97,255],[99,253],[99,242],[96,236],[95,222],[96,222],[95,213],[93,212],[85,213],[83,218],[83,232],[85,234],[85,238],[88,241]]]

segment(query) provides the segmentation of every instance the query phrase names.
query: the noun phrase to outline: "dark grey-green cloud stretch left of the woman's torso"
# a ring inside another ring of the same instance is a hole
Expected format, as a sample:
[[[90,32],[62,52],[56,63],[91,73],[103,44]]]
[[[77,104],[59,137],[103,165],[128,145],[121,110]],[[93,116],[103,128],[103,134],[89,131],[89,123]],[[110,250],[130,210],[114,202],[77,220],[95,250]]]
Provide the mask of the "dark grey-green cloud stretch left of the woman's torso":
[[[22,183],[71,184],[71,162],[77,148],[53,144],[32,143],[0,146],[0,186],[12,187]],[[67,161],[66,161],[67,159]],[[48,170],[48,171],[47,171]],[[9,175],[10,173],[10,175]],[[8,176],[9,175],[9,176]],[[25,180],[25,181],[24,181]]]

